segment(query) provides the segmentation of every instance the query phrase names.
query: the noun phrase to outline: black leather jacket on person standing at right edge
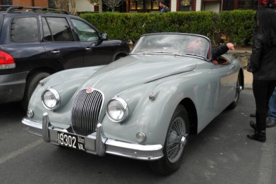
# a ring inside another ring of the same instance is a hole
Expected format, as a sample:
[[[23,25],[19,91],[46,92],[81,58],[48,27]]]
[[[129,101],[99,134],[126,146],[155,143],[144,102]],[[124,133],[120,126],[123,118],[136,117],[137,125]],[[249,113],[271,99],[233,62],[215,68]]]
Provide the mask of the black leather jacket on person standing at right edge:
[[[255,34],[248,72],[257,81],[276,80],[276,45],[264,44],[262,34]]]

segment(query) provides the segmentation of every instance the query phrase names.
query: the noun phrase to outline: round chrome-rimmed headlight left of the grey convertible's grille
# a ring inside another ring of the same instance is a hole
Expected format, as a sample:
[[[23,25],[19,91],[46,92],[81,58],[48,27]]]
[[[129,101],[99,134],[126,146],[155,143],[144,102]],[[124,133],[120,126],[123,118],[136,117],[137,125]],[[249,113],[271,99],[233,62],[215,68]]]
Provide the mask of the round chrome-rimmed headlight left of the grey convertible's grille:
[[[60,96],[57,90],[53,88],[46,89],[41,96],[44,107],[48,110],[59,108]]]

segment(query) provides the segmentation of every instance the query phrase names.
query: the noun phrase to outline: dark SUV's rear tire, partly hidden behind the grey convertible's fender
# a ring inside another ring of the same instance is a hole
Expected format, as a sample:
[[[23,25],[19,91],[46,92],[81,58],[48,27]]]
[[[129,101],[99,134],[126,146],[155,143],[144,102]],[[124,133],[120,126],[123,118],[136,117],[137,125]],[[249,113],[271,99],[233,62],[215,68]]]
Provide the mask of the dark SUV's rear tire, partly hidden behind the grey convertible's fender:
[[[50,76],[50,74],[47,72],[39,72],[31,74],[31,76],[27,79],[24,96],[21,101],[23,110],[27,111],[28,103],[30,101],[30,96],[32,96],[32,92],[34,92],[35,88],[37,88],[39,81],[46,78],[47,76]]]

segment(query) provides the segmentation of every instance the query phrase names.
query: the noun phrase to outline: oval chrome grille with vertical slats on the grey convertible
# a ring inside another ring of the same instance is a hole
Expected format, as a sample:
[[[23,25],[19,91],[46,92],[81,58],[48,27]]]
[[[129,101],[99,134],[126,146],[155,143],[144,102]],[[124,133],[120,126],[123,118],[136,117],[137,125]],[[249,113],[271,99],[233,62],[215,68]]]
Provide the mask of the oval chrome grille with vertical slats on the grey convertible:
[[[87,136],[96,130],[103,105],[103,95],[98,90],[90,93],[80,90],[75,96],[72,108],[72,129],[76,134]]]

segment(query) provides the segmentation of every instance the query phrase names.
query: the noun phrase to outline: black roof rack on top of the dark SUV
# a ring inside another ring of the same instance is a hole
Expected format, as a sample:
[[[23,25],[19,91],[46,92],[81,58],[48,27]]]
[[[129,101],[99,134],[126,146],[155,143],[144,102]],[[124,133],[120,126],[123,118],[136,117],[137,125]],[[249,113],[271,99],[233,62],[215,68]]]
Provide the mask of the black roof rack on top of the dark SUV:
[[[60,10],[55,8],[46,8],[46,7],[39,7],[39,6],[12,6],[12,5],[1,5],[0,10],[6,10],[6,13],[13,13],[14,10],[23,10],[23,9],[31,9],[32,12],[39,12],[39,10],[42,10],[44,12],[47,11],[54,11],[54,12],[62,12],[63,14],[70,14],[70,12],[66,10]],[[41,11],[40,11],[41,12]]]

